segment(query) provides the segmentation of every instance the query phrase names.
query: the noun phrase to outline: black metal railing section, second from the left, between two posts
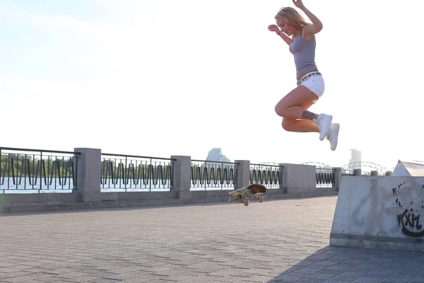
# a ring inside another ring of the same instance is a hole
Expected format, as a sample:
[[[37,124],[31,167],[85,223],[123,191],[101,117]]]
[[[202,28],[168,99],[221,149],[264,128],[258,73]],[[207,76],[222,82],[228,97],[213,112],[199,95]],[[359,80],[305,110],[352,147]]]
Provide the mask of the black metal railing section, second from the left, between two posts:
[[[102,154],[102,191],[167,191],[173,188],[175,159]]]

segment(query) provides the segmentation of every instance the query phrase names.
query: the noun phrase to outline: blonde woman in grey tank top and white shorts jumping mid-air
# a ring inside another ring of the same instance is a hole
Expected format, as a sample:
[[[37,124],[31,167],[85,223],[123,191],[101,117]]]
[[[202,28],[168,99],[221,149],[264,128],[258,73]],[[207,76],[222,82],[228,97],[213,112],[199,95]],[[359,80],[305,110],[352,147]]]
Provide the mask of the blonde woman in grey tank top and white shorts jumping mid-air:
[[[322,74],[315,64],[315,34],[322,30],[322,23],[305,7],[302,0],[293,0],[293,4],[312,23],[307,23],[295,8],[284,7],[275,16],[276,25],[268,27],[289,45],[288,50],[295,57],[298,80],[298,87],[284,96],[275,110],[278,116],[283,117],[283,129],[288,132],[318,132],[319,139],[328,139],[334,151],[340,125],[331,123],[331,115],[317,115],[307,110],[322,96],[325,88]]]

